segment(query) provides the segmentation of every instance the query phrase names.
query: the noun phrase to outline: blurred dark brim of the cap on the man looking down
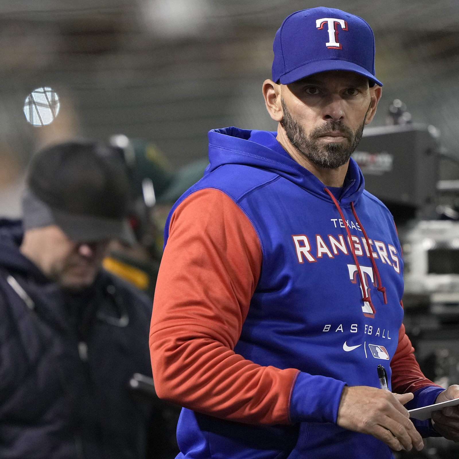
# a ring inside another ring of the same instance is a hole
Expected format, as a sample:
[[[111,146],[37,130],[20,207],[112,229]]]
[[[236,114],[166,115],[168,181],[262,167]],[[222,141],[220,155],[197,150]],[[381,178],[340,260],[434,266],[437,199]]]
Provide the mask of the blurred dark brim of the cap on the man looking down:
[[[131,245],[135,243],[134,233],[126,219],[78,215],[57,209],[51,209],[51,213],[56,225],[73,241],[96,242],[119,239]]]

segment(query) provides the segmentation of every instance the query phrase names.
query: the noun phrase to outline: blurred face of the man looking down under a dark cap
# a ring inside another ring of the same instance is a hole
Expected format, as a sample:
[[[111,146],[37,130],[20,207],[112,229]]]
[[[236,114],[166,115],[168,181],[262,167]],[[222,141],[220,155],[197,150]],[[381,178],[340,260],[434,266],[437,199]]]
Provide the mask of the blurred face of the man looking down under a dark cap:
[[[47,277],[73,291],[94,282],[109,241],[72,241],[56,225],[28,231],[38,232],[32,239],[35,245],[32,258]]]

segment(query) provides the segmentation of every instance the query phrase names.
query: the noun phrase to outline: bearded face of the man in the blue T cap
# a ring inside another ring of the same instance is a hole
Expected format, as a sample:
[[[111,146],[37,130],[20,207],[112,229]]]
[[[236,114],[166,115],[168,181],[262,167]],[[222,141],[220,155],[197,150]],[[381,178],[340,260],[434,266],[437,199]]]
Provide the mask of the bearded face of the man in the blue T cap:
[[[288,140],[316,166],[346,164],[362,138],[371,91],[367,78],[343,71],[282,86],[281,125]]]

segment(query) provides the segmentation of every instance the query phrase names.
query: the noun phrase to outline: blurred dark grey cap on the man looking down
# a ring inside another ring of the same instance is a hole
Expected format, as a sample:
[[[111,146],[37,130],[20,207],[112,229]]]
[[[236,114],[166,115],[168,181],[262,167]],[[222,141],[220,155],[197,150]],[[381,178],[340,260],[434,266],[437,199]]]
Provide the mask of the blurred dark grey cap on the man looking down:
[[[74,241],[134,242],[129,179],[117,151],[95,142],[51,146],[32,159],[27,185],[25,229],[54,223]]]

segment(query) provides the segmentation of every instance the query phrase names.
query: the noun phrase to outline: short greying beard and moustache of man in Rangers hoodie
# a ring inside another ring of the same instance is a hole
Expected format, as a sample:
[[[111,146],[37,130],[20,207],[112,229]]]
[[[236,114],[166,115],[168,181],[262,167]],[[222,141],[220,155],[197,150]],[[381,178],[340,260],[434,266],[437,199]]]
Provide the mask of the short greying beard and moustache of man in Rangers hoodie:
[[[285,101],[281,99],[282,108],[284,110],[284,118],[280,122],[285,130],[290,143],[310,162],[316,166],[336,169],[346,164],[353,152],[358,146],[358,143],[362,139],[364,132],[365,120],[367,115],[365,114],[364,121],[359,126],[356,132],[345,126],[341,121],[329,121],[323,126],[314,128],[308,135],[304,132],[302,126],[297,123],[288,111]],[[348,142],[345,144],[339,142],[331,142],[325,145],[319,144],[319,137],[330,131],[341,132],[347,137]]]

